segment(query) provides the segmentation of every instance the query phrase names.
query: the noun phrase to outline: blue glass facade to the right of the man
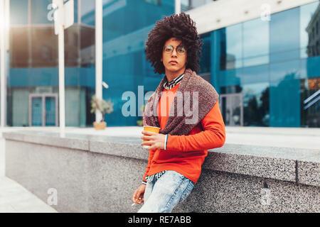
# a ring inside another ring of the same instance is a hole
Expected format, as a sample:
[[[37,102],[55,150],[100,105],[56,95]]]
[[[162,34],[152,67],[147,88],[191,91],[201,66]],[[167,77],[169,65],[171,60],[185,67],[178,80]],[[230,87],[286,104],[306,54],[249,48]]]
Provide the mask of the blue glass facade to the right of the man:
[[[319,9],[316,1],[202,35],[211,60],[201,71],[223,97],[242,97],[243,126],[320,127],[319,100],[304,104],[320,89]],[[225,108],[227,123],[239,118]]]

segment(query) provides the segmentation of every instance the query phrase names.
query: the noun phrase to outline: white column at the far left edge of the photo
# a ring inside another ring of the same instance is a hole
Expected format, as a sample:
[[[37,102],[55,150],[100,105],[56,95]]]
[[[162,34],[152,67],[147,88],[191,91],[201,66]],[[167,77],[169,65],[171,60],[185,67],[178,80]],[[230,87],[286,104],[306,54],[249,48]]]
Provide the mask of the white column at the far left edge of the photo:
[[[4,9],[4,1],[0,1],[1,127],[6,126],[6,20]]]

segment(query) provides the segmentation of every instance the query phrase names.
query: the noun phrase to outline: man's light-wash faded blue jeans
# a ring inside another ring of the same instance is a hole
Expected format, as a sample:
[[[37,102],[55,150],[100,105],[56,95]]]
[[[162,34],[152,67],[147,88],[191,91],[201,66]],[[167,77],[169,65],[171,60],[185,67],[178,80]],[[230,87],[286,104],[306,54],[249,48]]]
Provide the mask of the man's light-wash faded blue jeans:
[[[186,199],[193,187],[190,179],[173,170],[167,170],[157,180],[152,175],[147,179],[144,205],[138,213],[169,213]]]

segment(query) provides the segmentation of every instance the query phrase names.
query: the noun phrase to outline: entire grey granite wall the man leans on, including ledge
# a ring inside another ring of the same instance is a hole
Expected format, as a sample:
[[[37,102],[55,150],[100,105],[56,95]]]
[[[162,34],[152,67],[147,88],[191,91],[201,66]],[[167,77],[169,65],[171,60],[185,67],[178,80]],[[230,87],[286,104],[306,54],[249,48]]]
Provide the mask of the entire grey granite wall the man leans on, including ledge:
[[[60,212],[136,212],[148,150],[139,138],[14,132],[6,176]],[[174,212],[319,212],[319,150],[230,145],[210,150],[190,196]]]

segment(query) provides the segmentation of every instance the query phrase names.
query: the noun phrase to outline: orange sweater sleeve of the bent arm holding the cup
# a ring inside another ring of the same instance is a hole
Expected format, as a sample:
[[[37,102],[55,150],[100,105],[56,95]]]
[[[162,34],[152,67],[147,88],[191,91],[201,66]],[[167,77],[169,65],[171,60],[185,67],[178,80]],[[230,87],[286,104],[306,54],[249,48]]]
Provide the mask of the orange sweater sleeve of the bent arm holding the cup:
[[[218,101],[202,119],[203,130],[193,135],[169,135],[167,150],[191,151],[220,148],[225,143],[225,124]]]

